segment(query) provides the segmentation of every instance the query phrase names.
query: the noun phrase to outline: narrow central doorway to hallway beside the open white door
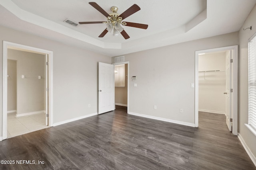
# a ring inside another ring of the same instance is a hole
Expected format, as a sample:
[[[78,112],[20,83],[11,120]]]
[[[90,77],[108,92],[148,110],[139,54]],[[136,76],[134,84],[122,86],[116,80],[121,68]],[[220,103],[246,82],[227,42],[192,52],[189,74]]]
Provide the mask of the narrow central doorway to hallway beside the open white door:
[[[115,106],[129,113],[129,62],[115,65]]]

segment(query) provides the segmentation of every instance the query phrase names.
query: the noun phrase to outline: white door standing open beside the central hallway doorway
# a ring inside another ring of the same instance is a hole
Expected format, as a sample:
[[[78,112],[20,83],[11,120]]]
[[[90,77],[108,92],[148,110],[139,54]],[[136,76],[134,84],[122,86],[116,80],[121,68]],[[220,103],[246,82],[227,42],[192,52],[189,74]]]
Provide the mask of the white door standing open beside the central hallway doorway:
[[[114,88],[114,65],[99,62],[98,114],[114,110]]]

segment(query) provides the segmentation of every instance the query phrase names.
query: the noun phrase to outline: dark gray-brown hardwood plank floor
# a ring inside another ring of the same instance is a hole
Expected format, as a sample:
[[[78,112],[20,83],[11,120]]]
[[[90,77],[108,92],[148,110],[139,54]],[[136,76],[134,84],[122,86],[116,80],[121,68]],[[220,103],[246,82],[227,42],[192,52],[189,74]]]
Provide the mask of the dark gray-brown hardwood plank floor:
[[[6,139],[0,148],[0,160],[15,161],[1,164],[1,170],[256,170],[238,137],[228,131],[225,116],[204,112],[194,128],[128,115],[126,108],[116,107]]]

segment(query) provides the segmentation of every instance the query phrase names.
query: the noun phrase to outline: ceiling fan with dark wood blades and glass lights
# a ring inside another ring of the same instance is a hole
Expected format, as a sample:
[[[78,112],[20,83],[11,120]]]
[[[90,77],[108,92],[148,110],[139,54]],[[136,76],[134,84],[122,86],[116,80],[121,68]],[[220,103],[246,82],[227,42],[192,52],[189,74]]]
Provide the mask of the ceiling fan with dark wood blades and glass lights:
[[[142,24],[142,23],[133,23],[133,22],[124,22],[125,18],[128,16],[131,16],[135,12],[140,10],[140,7],[136,4],[132,5],[130,8],[128,8],[125,12],[122,14],[118,14],[118,8],[116,6],[113,6],[111,8],[112,13],[108,14],[106,11],[104,11],[96,2],[89,2],[91,6],[93,6],[96,10],[98,10],[101,14],[107,17],[107,21],[91,21],[91,22],[79,22],[80,24],[90,24],[90,23],[106,23],[107,28],[99,35],[99,37],[104,37],[106,33],[111,32],[114,28],[113,35],[118,36],[119,33],[122,34],[124,39],[130,38],[129,35],[124,31],[124,28],[121,27],[121,25],[129,26],[129,27],[136,27],[136,28],[142,28],[147,29],[148,25]]]

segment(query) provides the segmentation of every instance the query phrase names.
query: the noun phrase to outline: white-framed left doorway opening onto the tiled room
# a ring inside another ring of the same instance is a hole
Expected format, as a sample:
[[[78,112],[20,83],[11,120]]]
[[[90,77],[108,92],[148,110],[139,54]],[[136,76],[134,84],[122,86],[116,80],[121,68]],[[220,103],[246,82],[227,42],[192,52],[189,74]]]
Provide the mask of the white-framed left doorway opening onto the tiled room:
[[[2,139],[52,126],[52,51],[4,41]]]

